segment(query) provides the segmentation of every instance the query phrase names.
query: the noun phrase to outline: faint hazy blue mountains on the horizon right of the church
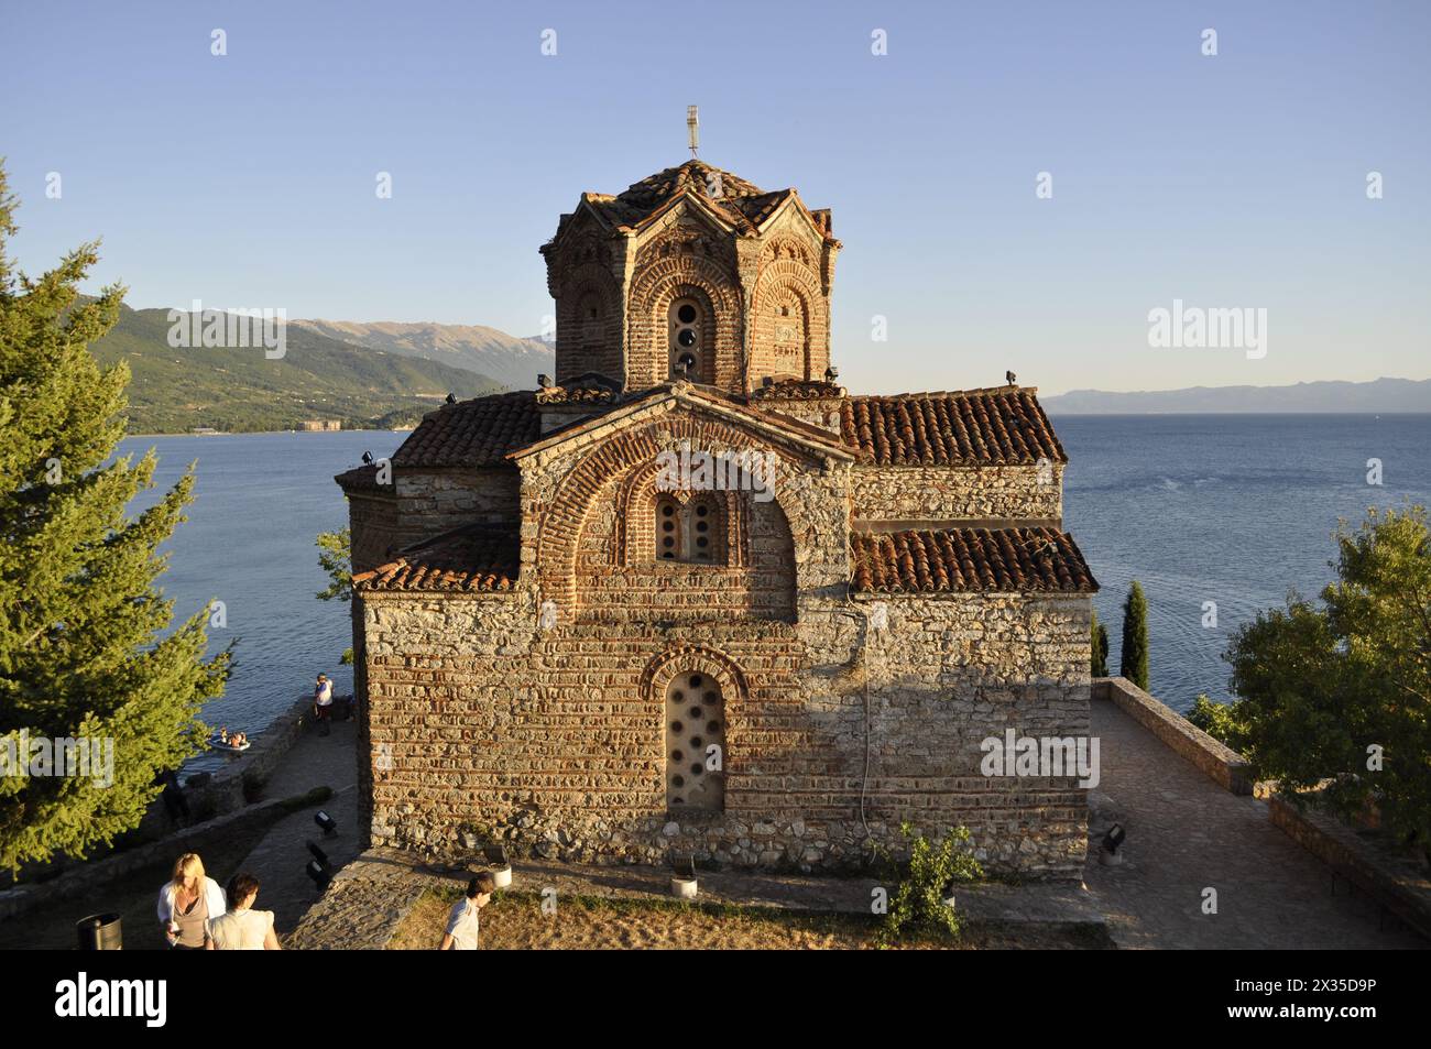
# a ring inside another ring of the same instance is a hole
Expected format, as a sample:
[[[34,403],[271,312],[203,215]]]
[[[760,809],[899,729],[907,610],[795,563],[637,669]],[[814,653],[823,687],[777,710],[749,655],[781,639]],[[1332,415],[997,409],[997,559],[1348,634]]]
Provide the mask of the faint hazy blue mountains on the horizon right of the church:
[[[1039,399],[1050,415],[1431,412],[1431,379],[1298,382],[1295,386],[1192,386],[1132,394],[1073,389]]]

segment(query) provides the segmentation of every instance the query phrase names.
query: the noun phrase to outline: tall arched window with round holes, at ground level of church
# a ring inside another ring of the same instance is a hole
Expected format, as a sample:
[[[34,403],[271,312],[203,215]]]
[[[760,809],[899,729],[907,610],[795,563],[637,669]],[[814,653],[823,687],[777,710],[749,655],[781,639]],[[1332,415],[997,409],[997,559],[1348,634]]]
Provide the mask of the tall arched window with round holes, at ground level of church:
[[[665,807],[726,809],[726,701],[710,674],[677,674],[665,690]]]

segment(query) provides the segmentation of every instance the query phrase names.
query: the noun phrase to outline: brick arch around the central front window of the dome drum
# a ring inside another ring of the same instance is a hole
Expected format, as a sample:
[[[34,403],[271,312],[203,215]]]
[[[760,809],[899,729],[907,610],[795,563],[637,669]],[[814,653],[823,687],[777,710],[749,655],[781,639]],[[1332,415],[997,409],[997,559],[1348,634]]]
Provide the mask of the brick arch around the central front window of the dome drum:
[[[653,245],[647,250],[653,250]],[[714,385],[740,385],[738,352],[744,332],[734,269],[716,256],[668,250],[638,265],[627,318],[627,389],[653,386],[670,378],[667,312],[675,299],[698,292],[710,302],[714,339]]]

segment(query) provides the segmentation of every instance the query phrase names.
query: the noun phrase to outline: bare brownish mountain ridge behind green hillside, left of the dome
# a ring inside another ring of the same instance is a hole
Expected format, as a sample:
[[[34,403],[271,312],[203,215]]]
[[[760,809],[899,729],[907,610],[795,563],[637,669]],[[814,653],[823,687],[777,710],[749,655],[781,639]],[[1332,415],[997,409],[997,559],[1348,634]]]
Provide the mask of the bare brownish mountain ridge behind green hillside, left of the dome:
[[[398,323],[395,321],[295,321],[331,339],[399,356],[438,361],[497,379],[512,389],[535,389],[539,372],[551,374],[557,356],[538,339],[518,338],[482,325]]]

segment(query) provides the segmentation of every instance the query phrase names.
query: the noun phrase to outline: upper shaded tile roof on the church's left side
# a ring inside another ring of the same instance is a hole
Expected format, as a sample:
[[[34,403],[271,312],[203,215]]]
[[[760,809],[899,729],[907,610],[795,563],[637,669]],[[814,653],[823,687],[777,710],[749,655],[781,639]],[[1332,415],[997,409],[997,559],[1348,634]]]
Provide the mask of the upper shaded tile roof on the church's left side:
[[[395,467],[491,467],[541,436],[541,412],[529,389],[444,405],[422,416],[392,455]]]

